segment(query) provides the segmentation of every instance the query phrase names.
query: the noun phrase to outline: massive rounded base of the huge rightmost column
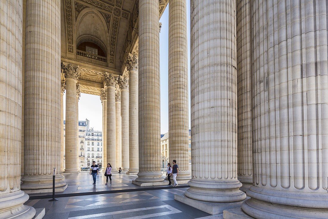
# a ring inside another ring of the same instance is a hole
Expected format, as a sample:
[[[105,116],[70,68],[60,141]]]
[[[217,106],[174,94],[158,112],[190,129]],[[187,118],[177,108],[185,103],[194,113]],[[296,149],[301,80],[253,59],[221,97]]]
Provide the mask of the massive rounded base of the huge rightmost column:
[[[324,190],[326,191],[326,190]],[[242,210],[254,218],[266,219],[326,219],[328,195],[314,192],[292,192],[252,186]]]

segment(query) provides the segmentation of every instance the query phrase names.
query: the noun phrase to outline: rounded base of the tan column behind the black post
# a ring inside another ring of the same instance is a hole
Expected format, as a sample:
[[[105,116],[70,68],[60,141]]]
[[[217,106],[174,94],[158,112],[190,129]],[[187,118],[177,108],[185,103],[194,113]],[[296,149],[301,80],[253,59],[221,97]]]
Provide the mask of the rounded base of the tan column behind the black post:
[[[55,191],[64,191],[67,183],[63,181],[63,175],[59,174],[55,178]],[[28,194],[52,192],[52,175],[24,176],[21,189]]]

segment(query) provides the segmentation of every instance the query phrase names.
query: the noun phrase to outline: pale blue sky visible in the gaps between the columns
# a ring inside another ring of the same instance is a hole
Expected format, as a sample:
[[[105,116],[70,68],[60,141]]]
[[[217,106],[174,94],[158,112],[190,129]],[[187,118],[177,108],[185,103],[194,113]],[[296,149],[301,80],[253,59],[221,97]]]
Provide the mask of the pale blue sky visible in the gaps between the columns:
[[[168,36],[169,36],[169,7],[159,20],[162,23],[159,34],[160,59],[160,92],[161,92],[161,133],[169,130],[168,109]],[[189,127],[190,127],[190,0],[187,0],[187,35],[188,35],[188,85],[189,85]],[[64,95],[65,109],[65,95]],[[81,94],[79,101],[79,120],[90,120],[90,127],[102,130],[102,105],[99,96]],[[64,110],[65,119],[65,110]]]

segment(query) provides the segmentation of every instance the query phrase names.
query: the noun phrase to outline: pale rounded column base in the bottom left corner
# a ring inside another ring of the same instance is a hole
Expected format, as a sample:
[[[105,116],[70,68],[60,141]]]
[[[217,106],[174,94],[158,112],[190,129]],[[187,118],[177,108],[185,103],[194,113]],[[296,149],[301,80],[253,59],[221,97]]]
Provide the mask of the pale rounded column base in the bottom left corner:
[[[35,209],[28,205],[23,205],[29,200],[29,195],[18,190],[0,194],[0,219],[31,219],[35,216]]]

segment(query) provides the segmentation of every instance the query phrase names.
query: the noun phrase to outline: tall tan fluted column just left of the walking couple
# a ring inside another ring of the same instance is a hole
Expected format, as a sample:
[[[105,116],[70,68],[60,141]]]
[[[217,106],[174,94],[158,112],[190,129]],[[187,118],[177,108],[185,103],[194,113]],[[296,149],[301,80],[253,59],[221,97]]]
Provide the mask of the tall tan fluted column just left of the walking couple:
[[[132,182],[161,182],[160,170],[158,1],[139,0],[139,173]]]

